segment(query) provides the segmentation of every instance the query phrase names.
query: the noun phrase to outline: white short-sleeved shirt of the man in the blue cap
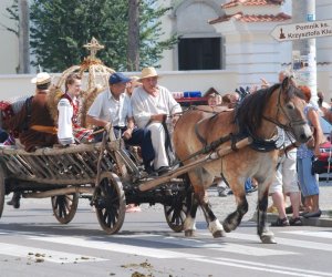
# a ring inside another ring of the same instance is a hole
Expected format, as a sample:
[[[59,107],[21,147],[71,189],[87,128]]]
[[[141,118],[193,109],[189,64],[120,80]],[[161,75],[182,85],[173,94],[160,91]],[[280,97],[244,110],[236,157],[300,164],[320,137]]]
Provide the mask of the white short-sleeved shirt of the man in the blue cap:
[[[124,127],[127,117],[133,116],[131,99],[126,93],[122,93],[120,99],[116,100],[108,88],[96,96],[87,114],[111,122],[113,126]]]

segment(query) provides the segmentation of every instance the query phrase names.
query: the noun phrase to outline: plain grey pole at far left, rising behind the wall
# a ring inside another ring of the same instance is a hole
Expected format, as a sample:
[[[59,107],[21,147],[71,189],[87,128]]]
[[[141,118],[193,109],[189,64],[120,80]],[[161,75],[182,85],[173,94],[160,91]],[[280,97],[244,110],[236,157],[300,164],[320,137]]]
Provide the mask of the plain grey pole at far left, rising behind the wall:
[[[28,0],[19,0],[19,72],[18,73],[30,73]]]

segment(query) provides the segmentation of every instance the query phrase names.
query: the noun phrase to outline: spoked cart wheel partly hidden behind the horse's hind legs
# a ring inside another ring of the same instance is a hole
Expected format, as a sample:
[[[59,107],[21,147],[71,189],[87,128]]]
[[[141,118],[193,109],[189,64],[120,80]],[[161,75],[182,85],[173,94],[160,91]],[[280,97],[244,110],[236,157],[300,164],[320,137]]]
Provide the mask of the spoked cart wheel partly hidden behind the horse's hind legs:
[[[188,186],[185,193],[181,191],[175,193],[170,205],[164,205],[166,222],[170,229],[176,233],[184,230],[185,219],[191,203],[191,195],[193,191]]]

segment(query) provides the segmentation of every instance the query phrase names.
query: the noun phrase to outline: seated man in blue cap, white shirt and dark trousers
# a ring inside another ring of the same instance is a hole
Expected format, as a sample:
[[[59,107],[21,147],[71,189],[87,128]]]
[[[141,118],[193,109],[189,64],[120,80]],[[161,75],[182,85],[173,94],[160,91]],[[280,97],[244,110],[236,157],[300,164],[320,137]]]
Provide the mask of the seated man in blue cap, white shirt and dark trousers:
[[[101,92],[86,115],[86,122],[97,127],[110,129],[113,125],[115,136],[122,134],[129,145],[138,145],[142,148],[142,158],[147,173],[152,173],[151,162],[155,157],[151,141],[151,131],[135,127],[129,96],[124,93],[126,84],[131,81],[120,72],[111,74],[110,86]],[[97,137],[96,141],[101,141]]]

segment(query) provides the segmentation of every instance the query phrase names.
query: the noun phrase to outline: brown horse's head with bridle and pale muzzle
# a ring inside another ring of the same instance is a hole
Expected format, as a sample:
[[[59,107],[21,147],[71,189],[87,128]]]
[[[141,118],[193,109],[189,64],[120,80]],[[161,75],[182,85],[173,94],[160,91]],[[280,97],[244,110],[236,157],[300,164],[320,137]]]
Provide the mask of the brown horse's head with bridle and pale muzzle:
[[[312,136],[311,129],[304,115],[305,104],[301,90],[293,84],[291,78],[286,78],[280,85],[276,120],[299,143],[305,143]]]

